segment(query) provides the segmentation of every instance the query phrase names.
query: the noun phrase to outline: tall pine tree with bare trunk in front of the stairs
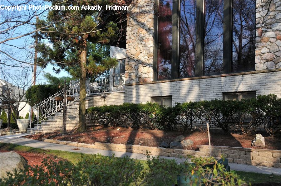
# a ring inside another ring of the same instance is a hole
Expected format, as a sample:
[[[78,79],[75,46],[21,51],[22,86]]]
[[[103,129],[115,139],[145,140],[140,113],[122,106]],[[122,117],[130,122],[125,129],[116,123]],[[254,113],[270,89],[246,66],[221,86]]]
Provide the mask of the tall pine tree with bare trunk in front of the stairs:
[[[52,5],[57,0],[50,0]],[[41,57],[38,62],[46,67],[49,62],[57,64],[60,68],[80,64],[80,103],[79,125],[77,132],[86,131],[86,71],[93,73],[99,69],[96,60],[87,59],[87,45],[92,43],[107,44],[116,39],[117,25],[101,19],[97,10],[81,10],[83,5],[105,7],[112,4],[109,0],[68,0],[60,6],[79,6],[79,10],[50,10],[46,20],[39,20],[37,27],[42,27],[53,22],[52,27],[46,27],[40,32],[38,51]],[[64,18],[62,21],[60,21]],[[58,22],[57,22],[58,21]],[[48,40],[48,43],[44,41]],[[51,43],[51,45],[50,45]],[[67,61],[67,52],[76,53],[78,61]],[[88,60],[88,65],[87,65]],[[114,67],[114,60],[104,61],[106,66]]]

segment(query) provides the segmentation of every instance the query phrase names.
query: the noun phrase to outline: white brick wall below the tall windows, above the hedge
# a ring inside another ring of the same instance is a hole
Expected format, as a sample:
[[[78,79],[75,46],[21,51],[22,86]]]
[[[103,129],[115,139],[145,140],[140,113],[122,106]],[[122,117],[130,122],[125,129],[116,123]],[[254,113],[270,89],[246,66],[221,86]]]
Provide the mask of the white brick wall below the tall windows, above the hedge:
[[[104,104],[145,103],[153,96],[172,96],[175,105],[176,102],[222,99],[223,92],[240,91],[257,91],[257,95],[274,93],[281,98],[281,71],[130,85],[125,92],[106,94]]]

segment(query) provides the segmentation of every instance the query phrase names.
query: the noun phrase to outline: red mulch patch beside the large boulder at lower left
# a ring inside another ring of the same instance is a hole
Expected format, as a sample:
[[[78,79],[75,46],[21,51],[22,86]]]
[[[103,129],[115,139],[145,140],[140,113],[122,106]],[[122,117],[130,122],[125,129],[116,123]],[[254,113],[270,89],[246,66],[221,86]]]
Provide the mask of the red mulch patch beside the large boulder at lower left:
[[[9,150],[4,150],[0,149],[0,152],[8,152]],[[42,165],[42,161],[44,158],[48,157],[48,160],[53,160],[53,161],[59,161],[62,160],[61,158],[55,158],[53,155],[47,155],[47,154],[38,154],[38,153],[33,153],[33,152],[22,152],[18,150],[13,150],[14,152],[18,153],[19,155],[23,156],[26,160],[28,165],[30,166],[40,166]]]

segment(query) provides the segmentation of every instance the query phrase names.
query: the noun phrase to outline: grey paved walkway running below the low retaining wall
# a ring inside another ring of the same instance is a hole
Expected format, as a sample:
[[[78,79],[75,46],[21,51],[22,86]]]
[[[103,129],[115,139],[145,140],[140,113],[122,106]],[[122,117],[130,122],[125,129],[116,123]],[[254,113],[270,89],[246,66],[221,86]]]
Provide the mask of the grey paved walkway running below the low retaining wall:
[[[146,160],[146,155],[130,153],[130,152],[90,149],[90,148],[85,148],[85,147],[79,147],[80,150],[72,150],[74,148],[74,146],[43,142],[43,141],[32,140],[32,139],[22,137],[22,136],[26,136],[26,135],[30,135],[30,134],[0,136],[0,142],[24,145],[24,146],[46,149],[46,150],[63,150],[63,151],[68,151],[68,152],[78,152],[78,153],[84,153],[84,154],[98,154],[99,153],[101,155],[111,156],[114,153],[116,157],[123,157],[123,156],[127,155],[130,158],[134,158],[134,159],[138,159],[138,160]],[[172,157],[165,157],[165,156],[160,156],[160,157],[165,158],[165,159],[175,159],[178,163],[185,161],[185,159],[180,159],[180,158],[172,158]],[[243,164],[235,164],[235,163],[229,163],[229,166],[230,166],[230,169],[232,169],[232,170],[281,175],[280,168],[243,165]]]

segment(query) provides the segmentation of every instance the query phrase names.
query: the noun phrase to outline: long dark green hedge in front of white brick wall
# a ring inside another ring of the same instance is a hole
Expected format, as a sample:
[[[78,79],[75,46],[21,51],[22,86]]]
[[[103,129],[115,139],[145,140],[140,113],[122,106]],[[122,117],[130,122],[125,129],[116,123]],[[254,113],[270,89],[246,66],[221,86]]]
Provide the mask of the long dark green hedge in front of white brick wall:
[[[274,94],[242,101],[211,100],[176,103],[163,107],[156,103],[123,103],[87,109],[94,125],[125,126],[152,130],[206,131],[206,124],[224,131],[233,127],[251,133],[259,127],[269,134],[281,131],[281,98]]]

